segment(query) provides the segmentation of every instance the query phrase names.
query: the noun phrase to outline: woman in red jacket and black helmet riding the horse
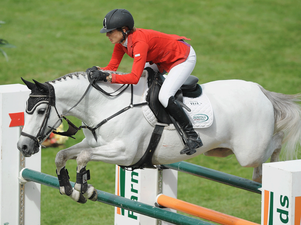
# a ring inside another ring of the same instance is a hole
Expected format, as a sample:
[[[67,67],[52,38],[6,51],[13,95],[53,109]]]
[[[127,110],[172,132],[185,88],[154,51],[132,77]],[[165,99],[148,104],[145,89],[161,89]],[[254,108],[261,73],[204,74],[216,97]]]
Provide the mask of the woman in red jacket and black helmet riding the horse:
[[[94,66],[88,68],[86,73],[92,72],[95,81],[137,84],[147,66],[163,74],[168,72],[160,89],[159,101],[179,123],[190,147],[196,149],[202,146],[202,141],[194,131],[187,114],[174,100],[176,91],[186,81],[196,63],[194,49],[183,41],[190,39],[154,30],[136,29],[133,16],[126,9],[114,9],[107,13],[100,32],[106,33],[112,44],[115,44],[112,58],[106,67]],[[100,71],[116,71],[125,53],[134,58],[131,73],[119,75]],[[180,154],[190,154],[188,143]]]

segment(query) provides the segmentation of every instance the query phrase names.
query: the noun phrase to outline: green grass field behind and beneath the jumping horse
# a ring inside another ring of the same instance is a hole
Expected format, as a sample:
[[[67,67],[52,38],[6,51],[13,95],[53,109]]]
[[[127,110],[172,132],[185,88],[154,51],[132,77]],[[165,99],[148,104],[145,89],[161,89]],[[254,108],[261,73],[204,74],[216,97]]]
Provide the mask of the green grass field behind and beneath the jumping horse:
[[[105,66],[113,45],[100,34],[104,15],[126,8],[138,28],[191,38],[197,53],[193,75],[199,83],[244,79],[284,94],[301,92],[301,2],[299,0],[2,0],[0,38],[9,61],[0,54],[0,84],[22,83],[20,77],[40,82],[94,65]],[[119,71],[129,72],[125,56]],[[68,140],[66,147],[81,140]],[[42,149],[42,172],[55,176],[54,158],[60,149]],[[199,156],[189,162],[251,179],[235,157]],[[114,165],[88,164],[91,183],[114,193]],[[67,162],[75,180],[76,162]],[[178,198],[260,223],[261,196],[224,184],[179,173]],[[113,206],[84,205],[42,187],[42,219],[46,224],[113,224]]]

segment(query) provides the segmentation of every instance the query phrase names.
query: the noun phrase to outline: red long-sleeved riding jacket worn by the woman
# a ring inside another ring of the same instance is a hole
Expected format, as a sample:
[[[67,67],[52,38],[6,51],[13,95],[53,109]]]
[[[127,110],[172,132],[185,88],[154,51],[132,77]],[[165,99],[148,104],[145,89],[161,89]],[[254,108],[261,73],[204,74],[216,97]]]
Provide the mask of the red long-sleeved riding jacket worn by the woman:
[[[125,53],[134,58],[131,73],[112,74],[112,83],[137,84],[146,62],[155,63],[161,73],[163,70],[169,72],[172,67],[184,62],[190,52],[190,45],[179,40],[191,39],[154,30],[136,29],[127,39],[127,48],[115,44],[109,64],[101,68],[116,71]]]

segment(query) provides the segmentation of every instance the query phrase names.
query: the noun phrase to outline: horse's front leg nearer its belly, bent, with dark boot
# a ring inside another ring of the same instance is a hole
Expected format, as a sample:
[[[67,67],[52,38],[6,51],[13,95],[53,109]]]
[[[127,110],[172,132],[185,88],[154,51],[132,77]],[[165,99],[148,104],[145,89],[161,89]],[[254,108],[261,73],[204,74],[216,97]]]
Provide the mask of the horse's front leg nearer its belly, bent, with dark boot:
[[[76,158],[77,161],[77,174],[75,190],[82,193],[86,198],[95,201],[97,199],[97,191],[87,183],[90,179],[89,170],[86,166],[90,161],[102,161],[110,164],[130,165],[133,161],[135,154],[127,153],[125,145],[122,142],[112,142],[104,146],[99,146],[90,149],[84,149]]]

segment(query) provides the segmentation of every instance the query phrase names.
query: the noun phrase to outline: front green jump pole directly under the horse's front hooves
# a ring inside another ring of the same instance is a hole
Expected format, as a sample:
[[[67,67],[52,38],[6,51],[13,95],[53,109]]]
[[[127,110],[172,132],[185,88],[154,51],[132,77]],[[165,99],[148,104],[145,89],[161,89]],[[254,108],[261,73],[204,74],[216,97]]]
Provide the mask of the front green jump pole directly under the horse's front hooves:
[[[49,187],[54,187],[56,189],[60,188],[57,177],[45,173],[37,172],[35,170],[30,170],[28,168],[23,169],[22,177],[27,181],[33,181]],[[70,183],[72,186],[74,186],[74,182],[70,182]],[[173,223],[176,225],[214,225],[213,223],[209,223],[203,220],[199,220],[175,212],[167,211],[162,208],[157,208],[152,205],[147,205],[142,202],[137,202],[132,199],[127,199],[101,190],[97,190],[97,193],[98,193],[98,197],[97,197],[98,202],[103,202],[119,208],[124,208],[129,211],[133,211],[159,220],[164,220],[166,222]]]

